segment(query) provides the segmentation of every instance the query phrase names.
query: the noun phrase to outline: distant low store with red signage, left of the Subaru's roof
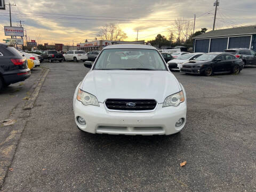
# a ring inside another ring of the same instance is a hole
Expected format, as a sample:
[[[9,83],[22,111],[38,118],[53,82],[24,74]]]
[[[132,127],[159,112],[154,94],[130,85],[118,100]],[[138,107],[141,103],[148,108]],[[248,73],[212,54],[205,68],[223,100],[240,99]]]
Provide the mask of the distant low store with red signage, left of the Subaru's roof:
[[[111,44],[111,41],[96,40],[92,42],[78,43],[77,50],[89,51],[101,51],[103,47]]]

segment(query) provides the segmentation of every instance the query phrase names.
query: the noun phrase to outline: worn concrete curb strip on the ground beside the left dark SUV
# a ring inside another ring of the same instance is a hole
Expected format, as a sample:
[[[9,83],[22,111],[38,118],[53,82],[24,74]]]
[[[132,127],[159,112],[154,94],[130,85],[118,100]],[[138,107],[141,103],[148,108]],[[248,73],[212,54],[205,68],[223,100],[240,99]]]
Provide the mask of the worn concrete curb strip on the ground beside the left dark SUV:
[[[23,110],[30,110],[30,109],[34,108],[36,98],[38,97],[39,91],[41,90],[43,83],[45,81],[45,78],[46,78],[47,74],[49,73],[49,71],[50,71],[50,69],[45,70],[44,75],[41,77],[40,81],[38,82],[38,84],[36,86],[36,89],[31,94],[31,97],[29,98],[29,100],[27,101],[25,106],[23,107]]]

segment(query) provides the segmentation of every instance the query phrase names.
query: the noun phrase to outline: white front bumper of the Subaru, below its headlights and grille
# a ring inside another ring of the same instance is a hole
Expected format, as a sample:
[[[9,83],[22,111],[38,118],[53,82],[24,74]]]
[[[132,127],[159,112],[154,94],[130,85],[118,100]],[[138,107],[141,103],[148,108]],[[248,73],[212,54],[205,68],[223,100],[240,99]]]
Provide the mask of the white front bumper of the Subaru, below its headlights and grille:
[[[74,98],[75,122],[79,129],[89,133],[154,135],[174,134],[183,129],[186,123],[187,103],[178,107],[162,107],[158,104],[153,112],[114,112],[107,110],[103,103],[100,106],[84,106]],[[77,117],[85,119],[86,125],[81,125]],[[179,127],[175,123],[183,118]]]

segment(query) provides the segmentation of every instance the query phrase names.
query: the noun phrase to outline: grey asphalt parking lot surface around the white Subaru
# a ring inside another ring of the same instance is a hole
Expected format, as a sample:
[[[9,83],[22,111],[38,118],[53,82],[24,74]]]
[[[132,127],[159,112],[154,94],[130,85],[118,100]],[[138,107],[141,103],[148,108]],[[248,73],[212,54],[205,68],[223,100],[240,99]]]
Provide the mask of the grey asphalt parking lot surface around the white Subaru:
[[[173,72],[187,92],[187,124],[142,137],[79,131],[72,100],[89,69],[42,66],[50,72],[2,191],[256,191],[256,67],[211,77]]]

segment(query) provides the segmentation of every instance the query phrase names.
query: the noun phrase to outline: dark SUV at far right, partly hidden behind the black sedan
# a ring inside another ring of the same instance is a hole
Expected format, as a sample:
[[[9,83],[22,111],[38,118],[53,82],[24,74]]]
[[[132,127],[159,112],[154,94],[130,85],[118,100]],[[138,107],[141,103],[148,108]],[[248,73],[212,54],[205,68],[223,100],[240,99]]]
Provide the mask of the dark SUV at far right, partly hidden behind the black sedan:
[[[243,60],[243,65],[256,65],[256,53],[250,49],[228,49],[225,50],[226,53],[234,54],[237,58]]]

